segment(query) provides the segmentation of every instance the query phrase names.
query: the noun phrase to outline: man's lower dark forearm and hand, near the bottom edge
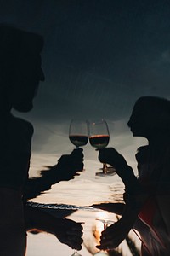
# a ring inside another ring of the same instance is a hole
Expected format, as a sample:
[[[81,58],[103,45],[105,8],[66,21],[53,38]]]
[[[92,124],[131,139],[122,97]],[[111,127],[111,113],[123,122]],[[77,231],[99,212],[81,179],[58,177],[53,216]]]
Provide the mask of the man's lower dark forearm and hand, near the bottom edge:
[[[82,223],[67,218],[55,218],[35,207],[25,206],[26,230],[41,230],[56,236],[61,243],[82,249]]]

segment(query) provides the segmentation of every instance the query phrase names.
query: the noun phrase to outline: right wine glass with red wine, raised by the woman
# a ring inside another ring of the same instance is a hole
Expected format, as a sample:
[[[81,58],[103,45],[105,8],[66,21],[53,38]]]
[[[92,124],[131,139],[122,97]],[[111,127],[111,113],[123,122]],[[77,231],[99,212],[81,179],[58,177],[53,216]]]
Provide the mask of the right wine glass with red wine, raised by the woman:
[[[104,119],[89,124],[89,141],[91,146],[97,149],[105,148],[109,144],[109,127]],[[115,169],[108,167],[106,163],[103,163],[102,170],[103,172],[96,172],[96,175],[106,176],[116,173]]]

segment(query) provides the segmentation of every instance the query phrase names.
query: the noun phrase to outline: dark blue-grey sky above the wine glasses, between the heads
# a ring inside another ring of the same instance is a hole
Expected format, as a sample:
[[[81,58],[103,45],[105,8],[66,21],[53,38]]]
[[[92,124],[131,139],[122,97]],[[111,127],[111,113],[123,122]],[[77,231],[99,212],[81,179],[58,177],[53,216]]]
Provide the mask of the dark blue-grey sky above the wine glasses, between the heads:
[[[169,1],[1,0],[0,21],[44,36],[34,122],[114,122],[139,96],[170,98]]]

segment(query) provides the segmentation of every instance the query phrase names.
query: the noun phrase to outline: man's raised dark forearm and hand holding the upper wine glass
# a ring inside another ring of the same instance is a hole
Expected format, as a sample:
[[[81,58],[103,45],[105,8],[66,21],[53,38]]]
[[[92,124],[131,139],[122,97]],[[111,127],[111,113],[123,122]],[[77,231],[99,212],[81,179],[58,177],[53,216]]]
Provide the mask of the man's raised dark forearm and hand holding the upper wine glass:
[[[24,201],[41,195],[42,191],[51,189],[51,186],[55,183],[67,181],[76,175],[80,175],[77,172],[83,170],[82,148],[74,149],[71,154],[63,154],[57,165],[47,167],[48,169],[40,172],[41,177],[32,177],[27,180]]]

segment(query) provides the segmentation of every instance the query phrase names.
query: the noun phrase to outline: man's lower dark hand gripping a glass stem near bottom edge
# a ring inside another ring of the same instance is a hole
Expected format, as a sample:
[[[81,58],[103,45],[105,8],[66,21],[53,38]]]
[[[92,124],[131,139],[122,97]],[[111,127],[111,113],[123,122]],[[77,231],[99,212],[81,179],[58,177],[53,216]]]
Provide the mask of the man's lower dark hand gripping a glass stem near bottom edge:
[[[62,219],[59,225],[56,225],[55,236],[60,242],[67,246],[81,250],[82,249],[82,223],[77,223],[71,219]]]

